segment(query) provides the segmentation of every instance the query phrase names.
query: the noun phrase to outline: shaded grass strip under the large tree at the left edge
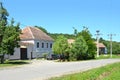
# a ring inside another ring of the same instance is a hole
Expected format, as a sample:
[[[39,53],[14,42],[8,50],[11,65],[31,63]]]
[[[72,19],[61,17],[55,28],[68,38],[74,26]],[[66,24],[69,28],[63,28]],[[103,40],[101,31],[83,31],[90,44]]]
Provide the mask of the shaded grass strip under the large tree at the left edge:
[[[0,68],[29,64],[29,62],[29,60],[6,60],[4,64],[0,64]]]

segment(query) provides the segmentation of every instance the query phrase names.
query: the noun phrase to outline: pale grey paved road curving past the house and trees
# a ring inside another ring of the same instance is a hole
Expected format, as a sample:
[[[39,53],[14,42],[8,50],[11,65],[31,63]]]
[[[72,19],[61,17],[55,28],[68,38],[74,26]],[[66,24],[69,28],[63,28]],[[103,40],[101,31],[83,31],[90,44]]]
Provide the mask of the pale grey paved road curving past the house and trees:
[[[63,63],[34,60],[32,64],[15,68],[0,69],[0,80],[44,80],[49,77],[85,71],[114,62],[120,62],[120,59],[103,59]]]

